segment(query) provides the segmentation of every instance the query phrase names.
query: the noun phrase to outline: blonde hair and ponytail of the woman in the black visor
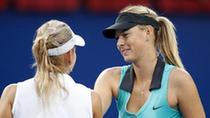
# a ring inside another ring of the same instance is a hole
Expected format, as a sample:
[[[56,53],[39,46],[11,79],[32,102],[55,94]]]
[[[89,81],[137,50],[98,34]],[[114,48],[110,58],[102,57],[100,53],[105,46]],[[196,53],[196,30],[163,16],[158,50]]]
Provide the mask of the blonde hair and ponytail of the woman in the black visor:
[[[145,14],[158,21],[160,24],[160,29],[159,31],[155,31],[155,47],[164,55],[167,63],[184,68],[179,56],[175,27],[168,18],[158,16],[155,11],[141,5],[127,6],[120,11],[120,13],[123,12]]]

